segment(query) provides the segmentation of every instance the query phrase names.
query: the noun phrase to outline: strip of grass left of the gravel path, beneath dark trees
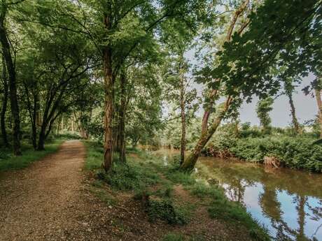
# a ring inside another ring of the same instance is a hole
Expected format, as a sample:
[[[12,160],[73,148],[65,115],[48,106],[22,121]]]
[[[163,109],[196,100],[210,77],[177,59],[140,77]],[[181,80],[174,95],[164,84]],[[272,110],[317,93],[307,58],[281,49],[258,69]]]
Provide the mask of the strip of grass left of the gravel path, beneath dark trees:
[[[48,154],[57,152],[64,138],[57,138],[45,145],[45,150],[35,151],[30,144],[22,142],[22,156],[13,156],[11,149],[0,149],[0,171],[19,170],[27,168],[34,161],[42,159]]]

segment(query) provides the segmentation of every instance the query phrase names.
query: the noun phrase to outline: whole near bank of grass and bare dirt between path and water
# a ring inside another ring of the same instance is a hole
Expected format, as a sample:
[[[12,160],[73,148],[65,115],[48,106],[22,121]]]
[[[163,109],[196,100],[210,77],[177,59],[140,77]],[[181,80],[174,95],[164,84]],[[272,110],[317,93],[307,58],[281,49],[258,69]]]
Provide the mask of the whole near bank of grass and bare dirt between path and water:
[[[85,142],[85,169],[90,191],[111,208],[122,240],[269,240],[239,203],[231,202],[206,173],[187,175],[176,162],[138,149],[127,153],[127,165],[101,170],[101,144]]]

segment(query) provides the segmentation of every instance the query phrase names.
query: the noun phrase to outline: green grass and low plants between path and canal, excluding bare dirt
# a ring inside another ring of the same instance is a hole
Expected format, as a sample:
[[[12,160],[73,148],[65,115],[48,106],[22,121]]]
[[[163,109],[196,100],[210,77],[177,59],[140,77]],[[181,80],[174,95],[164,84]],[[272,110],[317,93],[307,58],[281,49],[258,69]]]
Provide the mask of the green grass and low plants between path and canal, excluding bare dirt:
[[[269,240],[267,231],[252,219],[244,207],[229,201],[216,184],[207,184],[204,179],[201,180],[200,173],[189,175],[179,172],[175,160],[165,166],[158,156],[139,149],[130,149],[127,153],[127,164],[118,163],[116,158],[113,170],[106,174],[101,168],[102,144],[86,141],[85,145],[87,146],[85,167],[97,173],[94,185],[104,187],[108,184],[113,191],[131,192],[138,201],[148,198],[145,210],[150,221],[161,219],[167,224],[184,226],[193,219],[198,207],[206,206],[210,218],[228,222],[237,229],[243,226],[253,240]],[[195,198],[197,203],[177,200],[174,187],[178,185]],[[106,198],[101,191],[98,191],[98,196],[109,205],[113,203],[111,201],[113,197]],[[203,239],[169,233],[165,235],[164,240]]]

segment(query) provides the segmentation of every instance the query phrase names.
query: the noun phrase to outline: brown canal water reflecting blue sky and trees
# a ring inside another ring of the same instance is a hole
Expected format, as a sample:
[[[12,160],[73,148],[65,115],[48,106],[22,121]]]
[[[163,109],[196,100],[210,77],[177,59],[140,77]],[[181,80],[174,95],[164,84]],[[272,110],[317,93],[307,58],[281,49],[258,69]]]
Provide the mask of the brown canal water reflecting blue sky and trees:
[[[156,153],[167,165],[175,152]],[[322,174],[214,157],[200,157],[197,169],[201,166],[207,166],[209,181],[244,205],[275,240],[322,241]]]

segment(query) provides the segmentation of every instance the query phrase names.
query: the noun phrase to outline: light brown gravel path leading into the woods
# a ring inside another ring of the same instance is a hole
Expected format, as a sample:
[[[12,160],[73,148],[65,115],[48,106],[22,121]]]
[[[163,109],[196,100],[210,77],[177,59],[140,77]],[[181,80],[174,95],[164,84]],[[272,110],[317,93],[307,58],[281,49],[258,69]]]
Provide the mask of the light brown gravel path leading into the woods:
[[[25,170],[0,174],[0,240],[88,240],[83,220],[99,207],[81,194],[84,157],[83,144],[69,140]]]

